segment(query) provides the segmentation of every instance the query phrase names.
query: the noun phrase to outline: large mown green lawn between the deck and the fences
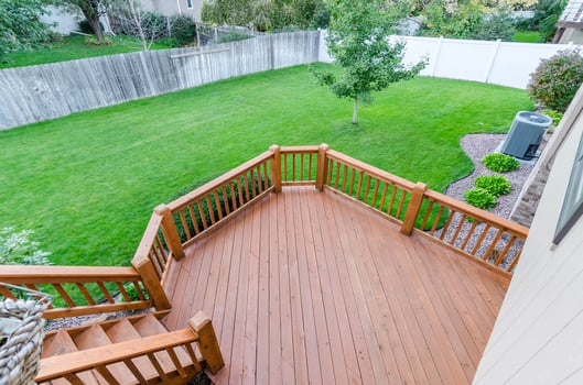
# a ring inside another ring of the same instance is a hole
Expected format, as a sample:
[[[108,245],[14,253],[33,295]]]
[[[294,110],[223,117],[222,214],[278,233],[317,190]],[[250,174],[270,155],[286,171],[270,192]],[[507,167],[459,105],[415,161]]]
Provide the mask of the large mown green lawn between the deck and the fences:
[[[467,174],[458,142],[503,132],[525,91],[418,78],[352,101],[315,86],[306,66],[0,131],[0,223],[32,229],[56,264],[128,264],[153,208],[269,145],[333,148],[443,190]]]

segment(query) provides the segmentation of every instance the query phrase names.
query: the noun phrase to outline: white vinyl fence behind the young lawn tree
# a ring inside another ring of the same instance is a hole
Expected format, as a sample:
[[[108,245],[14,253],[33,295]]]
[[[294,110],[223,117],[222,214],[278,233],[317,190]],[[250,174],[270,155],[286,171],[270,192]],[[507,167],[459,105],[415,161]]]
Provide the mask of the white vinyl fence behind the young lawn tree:
[[[320,61],[330,63],[325,32],[321,34]],[[422,76],[474,80],[526,89],[541,58],[565,50],[566,44],[532,44],[399,36],[407,43],[406,63],[429,58]]]

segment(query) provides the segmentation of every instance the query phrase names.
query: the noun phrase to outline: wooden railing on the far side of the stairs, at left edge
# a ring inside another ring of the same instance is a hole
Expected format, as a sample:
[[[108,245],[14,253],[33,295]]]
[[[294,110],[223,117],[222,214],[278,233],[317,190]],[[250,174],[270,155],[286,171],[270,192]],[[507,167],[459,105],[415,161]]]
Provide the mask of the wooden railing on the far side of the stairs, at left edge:
[[[0,282],[53,294],[56,298],[44,312],[46,319],[138,310],[153,305],[142,288],[145,286],[142,277],[131,267],[4,265],[0,266]],[[138,298],[131,298],[130,290]],[[18,298],[17,292],[2,285],[0,295]]]

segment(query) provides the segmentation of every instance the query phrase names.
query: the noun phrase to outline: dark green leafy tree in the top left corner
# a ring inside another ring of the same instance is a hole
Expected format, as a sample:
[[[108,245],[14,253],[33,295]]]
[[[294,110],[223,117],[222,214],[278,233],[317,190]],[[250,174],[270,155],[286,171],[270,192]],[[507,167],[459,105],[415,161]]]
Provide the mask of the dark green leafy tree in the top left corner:
[[[42,0],[0,0],[0,61],[11,51],[31,50],[50,37]]]

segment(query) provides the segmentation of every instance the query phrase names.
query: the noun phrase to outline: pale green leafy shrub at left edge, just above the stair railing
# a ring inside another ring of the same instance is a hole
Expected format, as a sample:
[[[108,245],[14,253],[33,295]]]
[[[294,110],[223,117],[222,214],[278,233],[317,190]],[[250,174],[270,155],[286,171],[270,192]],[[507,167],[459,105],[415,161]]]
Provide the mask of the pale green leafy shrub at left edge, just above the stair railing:
[[[50,265],[51,253],[39,249],[39,242],[30,240],[32,230],[17,232],[14,227],[0,229],[0,264]]]

